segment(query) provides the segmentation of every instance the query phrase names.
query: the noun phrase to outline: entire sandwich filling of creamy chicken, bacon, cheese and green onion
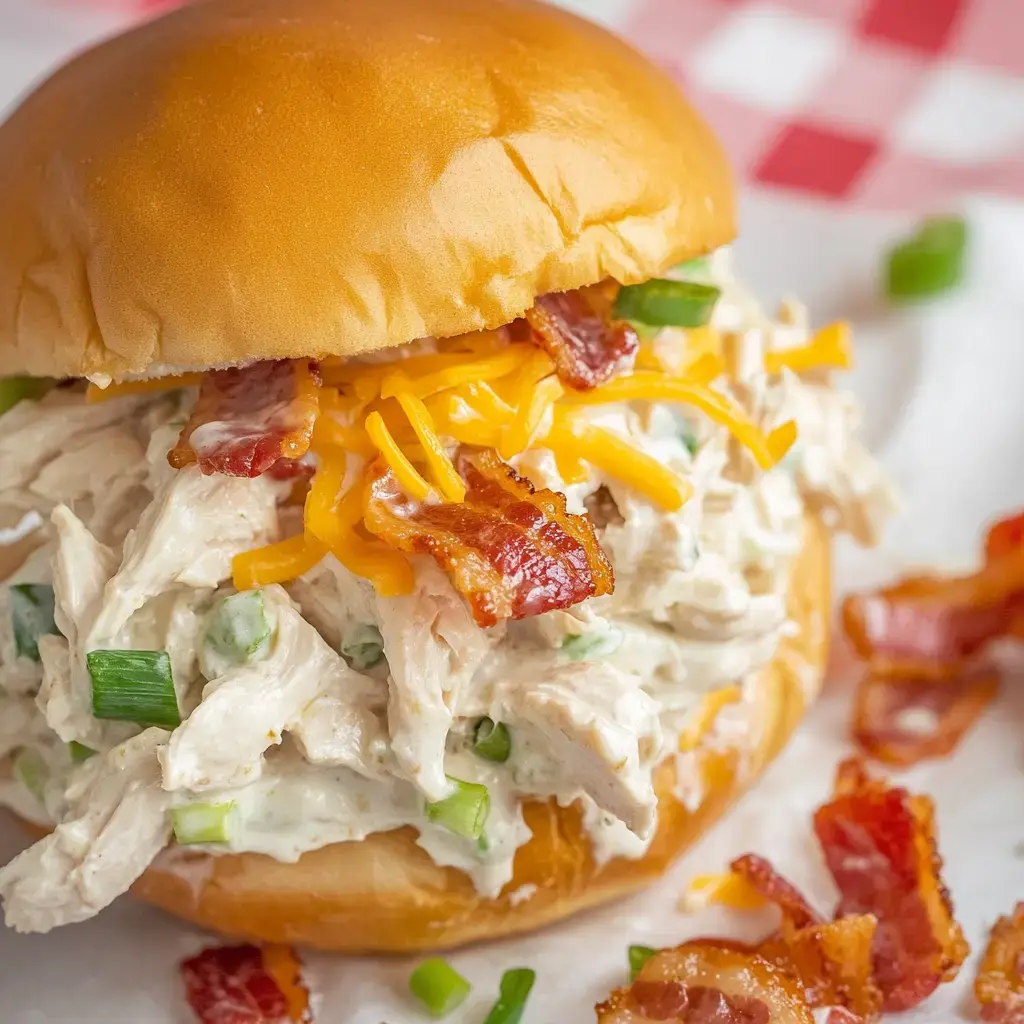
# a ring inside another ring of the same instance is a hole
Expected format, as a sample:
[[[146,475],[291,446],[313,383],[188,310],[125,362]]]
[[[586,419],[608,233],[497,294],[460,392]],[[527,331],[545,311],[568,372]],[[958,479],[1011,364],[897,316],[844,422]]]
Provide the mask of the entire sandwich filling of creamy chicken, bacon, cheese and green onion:
[[[666,758],[697,806],[695,749],[757,741],[805,515],[870,543],[892,498],[830,384],[845,326],[770,321],[726,252],[675,276],[708,323],[595,288],[0,418],[0,525],[36,527],[0,802],[53,827],[0,869],[7,923],[89,918],[168,848],[402,826],[496,897],[528,800],[579,803],[599,863],[643,855]]]

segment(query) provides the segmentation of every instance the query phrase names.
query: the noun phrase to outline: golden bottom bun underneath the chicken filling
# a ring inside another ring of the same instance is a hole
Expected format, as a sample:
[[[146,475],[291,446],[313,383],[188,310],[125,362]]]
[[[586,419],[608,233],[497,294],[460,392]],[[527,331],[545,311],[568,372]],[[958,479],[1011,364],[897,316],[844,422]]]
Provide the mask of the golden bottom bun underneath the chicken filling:
[[[412,828],[307,853],[295,864],[260,854],[211,857],[175,851],[136,883],[136,896],[231,936],[295,942],[345,952],[442,949],[528,931],[640,889],[717,820],[779,752],[821,683],[829,608],[828,536],[808,519],[792,579],[798,632],[782,640],[757,679],[750,707],[757,742],[744,751],[702,751],[706,796],[695,813],[674,796],[675,770],[656,777],[659,825],[646,856],[598,868],[575,807],[525,807],[534,838],[515,860],[505,893],[483,899],[466,876],[438,867]]]

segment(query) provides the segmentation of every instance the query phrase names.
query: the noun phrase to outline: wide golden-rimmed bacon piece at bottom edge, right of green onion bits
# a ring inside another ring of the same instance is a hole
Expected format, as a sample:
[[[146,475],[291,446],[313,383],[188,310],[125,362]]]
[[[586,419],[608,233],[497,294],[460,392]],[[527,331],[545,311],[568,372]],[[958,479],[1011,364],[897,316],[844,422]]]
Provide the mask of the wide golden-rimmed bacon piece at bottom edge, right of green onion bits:
[[[597,1007],[598,1024],[811,1024],[800,983],[737,943],[663,949],[628,988]]]

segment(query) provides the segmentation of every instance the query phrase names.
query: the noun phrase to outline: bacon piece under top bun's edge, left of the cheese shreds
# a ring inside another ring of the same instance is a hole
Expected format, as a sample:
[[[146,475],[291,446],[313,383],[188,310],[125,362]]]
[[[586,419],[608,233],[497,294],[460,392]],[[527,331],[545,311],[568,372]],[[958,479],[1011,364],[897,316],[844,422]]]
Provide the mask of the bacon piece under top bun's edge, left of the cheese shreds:
[[[175,469],[198,462],[207,474],[253,477],[280,460],[301,459],[319,414],[318,387],[308,359],[213,370],[167,461]]]

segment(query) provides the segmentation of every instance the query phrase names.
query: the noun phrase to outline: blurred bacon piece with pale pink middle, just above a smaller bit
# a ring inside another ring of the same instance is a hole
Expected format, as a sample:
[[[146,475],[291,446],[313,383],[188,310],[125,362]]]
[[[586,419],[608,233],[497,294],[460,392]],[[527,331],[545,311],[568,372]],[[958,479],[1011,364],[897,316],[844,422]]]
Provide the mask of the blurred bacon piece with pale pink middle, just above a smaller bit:
[[[843,603],[843,627],[878,675],[945,679],[1024,610],[1024,549],[966,577],[911,577]]]

